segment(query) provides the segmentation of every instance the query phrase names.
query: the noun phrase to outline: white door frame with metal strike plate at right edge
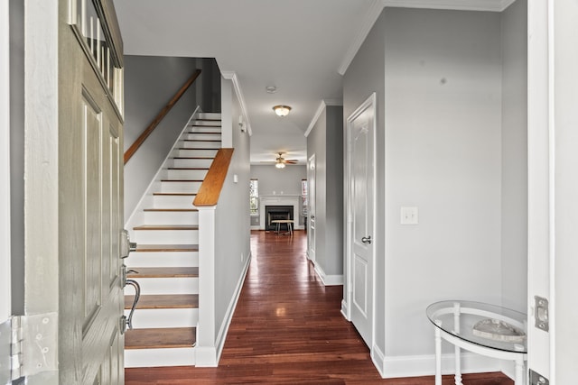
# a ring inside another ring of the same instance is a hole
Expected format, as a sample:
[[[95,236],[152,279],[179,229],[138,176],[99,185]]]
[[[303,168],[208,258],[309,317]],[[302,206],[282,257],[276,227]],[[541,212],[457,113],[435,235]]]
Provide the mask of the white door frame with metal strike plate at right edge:
[[[528,0],[527,362],[552,384],[575,380],[578,357],[576,17],[573,1]],[[549,302],[547,332],[535,326],[535,296]]]

